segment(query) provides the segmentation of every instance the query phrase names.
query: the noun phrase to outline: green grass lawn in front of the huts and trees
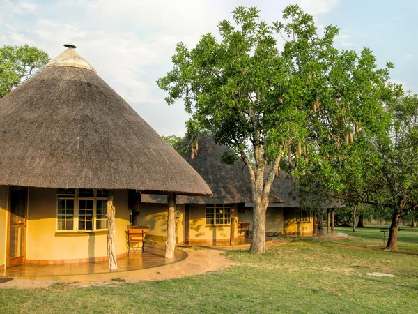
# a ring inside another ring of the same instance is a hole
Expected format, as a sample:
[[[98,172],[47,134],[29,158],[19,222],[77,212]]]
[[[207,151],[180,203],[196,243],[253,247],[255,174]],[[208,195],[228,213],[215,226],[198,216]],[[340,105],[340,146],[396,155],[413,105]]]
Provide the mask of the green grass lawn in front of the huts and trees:
[[[169,281],[43,290],[0,289],[4,313],[417,313],[418,230],[382,251],[378,227],[351,239],[293,239],[263,255],[226,253],[236,265]],[[367,273],[385,272],[394,278]]]

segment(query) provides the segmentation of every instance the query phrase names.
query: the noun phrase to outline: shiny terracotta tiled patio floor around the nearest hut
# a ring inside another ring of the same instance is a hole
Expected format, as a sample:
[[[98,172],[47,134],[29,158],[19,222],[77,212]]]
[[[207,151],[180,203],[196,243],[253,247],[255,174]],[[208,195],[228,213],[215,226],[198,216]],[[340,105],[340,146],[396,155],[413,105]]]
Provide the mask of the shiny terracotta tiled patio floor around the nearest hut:
[[[118,271],[121,275],[124,271],[137,271],[141,269],[150,269],[153,267],[164,267],[165,265],[174,264],[187,258],[185,251],[176,250],[173,260],[166,260],[164,257],[164,246],[145,246],[144,253],[132,254],[130,257],[118,258]],[[54,279],[55,276],[64,278],[77,279],[77,276],[90,274],[109,274],[109,265],[104,262],[90,262],[79,264],[23,264],[10,267],[0,271],[1,277],[25,277],[25,278],[42,278]],[[115,277],[115,276],[112,276]],[[116,276],[117,277],[117,276]]]

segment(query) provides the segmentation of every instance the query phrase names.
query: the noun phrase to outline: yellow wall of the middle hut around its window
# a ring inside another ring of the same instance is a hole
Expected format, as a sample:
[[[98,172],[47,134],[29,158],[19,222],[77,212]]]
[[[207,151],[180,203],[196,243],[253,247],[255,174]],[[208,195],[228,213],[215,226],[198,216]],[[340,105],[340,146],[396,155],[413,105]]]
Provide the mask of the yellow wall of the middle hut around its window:
[[[238,237],[238,209],[235,206],[235,238]],[[190,241],[229,240],[231,225],[206,225],[205,204],[190,204]]]

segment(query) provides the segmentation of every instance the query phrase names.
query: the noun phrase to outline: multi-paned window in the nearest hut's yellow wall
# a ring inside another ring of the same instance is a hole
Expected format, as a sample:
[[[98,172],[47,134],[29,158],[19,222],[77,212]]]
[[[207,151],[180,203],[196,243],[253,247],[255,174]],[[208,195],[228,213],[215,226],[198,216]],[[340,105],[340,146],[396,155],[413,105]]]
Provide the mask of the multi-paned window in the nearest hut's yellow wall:
[[[106,230],[106,202],[107,190],[59,188],[56,197],[56,230]]]

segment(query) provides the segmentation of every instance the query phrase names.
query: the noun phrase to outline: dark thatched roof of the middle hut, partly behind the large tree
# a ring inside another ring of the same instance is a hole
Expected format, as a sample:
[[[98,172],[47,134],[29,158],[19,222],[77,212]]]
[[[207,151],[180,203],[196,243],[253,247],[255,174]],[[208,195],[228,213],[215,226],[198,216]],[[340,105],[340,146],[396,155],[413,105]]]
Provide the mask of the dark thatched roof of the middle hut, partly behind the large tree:
[[[186,144],[183,140],[183,144]],[[184,156],[187,163],[205,179],[213,192],[212,197],[178,197],[178,204],[209,204],[209,203],[245,203],[251,202],[251,181],[249,173],[242,161],[233,165],[224,165],[220,156],[231,151],[225,145],[217,145],[211,135],[199,137],[199,151],[192,159],[189,152]],[[142,202],[165,203],[163,197],[143,195]],[[277,188],[270,191],[270,202],[284,202],[277,193]]]

